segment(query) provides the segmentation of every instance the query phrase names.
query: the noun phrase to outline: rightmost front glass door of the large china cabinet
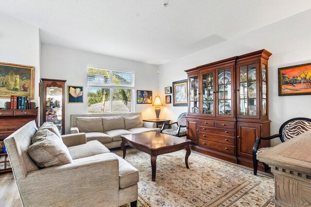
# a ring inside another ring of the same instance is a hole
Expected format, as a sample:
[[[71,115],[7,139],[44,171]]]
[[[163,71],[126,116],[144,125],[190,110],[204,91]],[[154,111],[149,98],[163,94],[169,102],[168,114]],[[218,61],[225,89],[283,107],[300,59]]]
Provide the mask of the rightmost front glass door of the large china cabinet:
[[[238,66],[238,99],[240,100],[238,116],[257,118],[258,98],[257,97],[257,73],[256,62]]]

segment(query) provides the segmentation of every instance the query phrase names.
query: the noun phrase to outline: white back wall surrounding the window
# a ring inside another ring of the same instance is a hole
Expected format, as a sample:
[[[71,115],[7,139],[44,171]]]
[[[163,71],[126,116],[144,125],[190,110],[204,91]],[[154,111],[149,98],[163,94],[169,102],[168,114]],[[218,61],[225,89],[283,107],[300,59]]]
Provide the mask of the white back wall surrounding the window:
[[[67,85],[84,86],[84,103],[67,103],[67,88],[65,90],[66,133],[69,133],[70,114],[87,113],[87,66],[135,71],[135,92],[151,90],[153,98],[157,95],[158,68],[156,65],[42,44],[41,78],[67,80],[66,87]],[[164,101],[163,98],[162,102]],[[155,118],[154,107],[151,104],[135,103],[135,112],[142,112],[143,119]]]

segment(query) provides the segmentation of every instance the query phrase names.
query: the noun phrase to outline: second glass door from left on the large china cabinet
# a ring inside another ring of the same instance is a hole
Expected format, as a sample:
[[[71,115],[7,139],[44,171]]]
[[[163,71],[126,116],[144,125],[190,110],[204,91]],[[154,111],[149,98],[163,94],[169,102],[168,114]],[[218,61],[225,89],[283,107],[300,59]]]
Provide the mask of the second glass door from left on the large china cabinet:
[[[215,116],[214,94],[214,71],[210,71],[202,75],[202,114]]]

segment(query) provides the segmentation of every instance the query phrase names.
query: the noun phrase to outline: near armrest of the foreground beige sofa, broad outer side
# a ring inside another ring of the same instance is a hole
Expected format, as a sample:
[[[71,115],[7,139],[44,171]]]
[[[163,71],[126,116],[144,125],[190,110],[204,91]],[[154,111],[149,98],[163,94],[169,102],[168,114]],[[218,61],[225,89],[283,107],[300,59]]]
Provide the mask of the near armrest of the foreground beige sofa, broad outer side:
[[[17,185],[25,206],[115,206],[119,161],[113,153],[105,153],[96,159],[30,172]]]

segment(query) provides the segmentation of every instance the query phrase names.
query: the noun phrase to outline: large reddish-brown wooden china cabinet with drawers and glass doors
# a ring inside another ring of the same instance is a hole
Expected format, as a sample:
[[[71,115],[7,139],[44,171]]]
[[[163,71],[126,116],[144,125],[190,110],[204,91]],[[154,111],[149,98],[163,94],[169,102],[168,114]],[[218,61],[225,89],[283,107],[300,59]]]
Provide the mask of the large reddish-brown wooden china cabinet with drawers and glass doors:
[[[189,70],[187,139],[198,152],[253,167],[257,136],[270,136],[268,59],[259,50]],[[270,146],[269,141],[260,147]],[[259,163],[259,170],[266,170]]]

